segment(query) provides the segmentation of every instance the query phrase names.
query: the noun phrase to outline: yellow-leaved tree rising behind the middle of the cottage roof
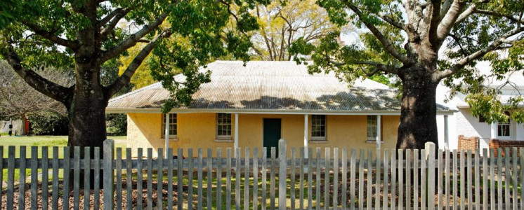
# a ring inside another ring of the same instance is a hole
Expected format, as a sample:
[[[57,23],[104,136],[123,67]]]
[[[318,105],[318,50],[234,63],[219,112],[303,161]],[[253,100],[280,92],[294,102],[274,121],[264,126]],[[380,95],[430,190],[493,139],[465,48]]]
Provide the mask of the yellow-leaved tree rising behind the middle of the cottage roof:
[[[256,6],[252,13],[260,25],[251,37],[255,59],[291,60],[287,48],[297,38],[315,43],[337,29],[315,0],[273,1],[268,6]]]

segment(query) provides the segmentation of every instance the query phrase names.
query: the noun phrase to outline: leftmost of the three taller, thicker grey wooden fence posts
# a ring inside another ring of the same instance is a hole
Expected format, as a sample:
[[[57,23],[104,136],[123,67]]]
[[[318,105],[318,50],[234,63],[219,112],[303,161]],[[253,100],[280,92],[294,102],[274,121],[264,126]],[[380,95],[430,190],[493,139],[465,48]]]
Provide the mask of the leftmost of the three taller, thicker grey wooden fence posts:
[[[106,139],[104,141],[104,210],[114,209],[114,172],[113,172],[113,158],[114,158],[114,141]]]

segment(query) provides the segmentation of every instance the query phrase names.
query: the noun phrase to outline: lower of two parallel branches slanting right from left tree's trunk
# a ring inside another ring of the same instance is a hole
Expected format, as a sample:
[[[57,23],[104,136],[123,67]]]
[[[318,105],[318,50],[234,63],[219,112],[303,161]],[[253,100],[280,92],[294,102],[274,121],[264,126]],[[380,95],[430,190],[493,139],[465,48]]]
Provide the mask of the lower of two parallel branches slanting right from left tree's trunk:
[[[135,73],[136,69],[138,69],[140,64],[142,64],[145,57],[148,57],[148,55],[153,50],[153,48],[155,48],[157,41],[159,41],[160,38],[171,36],[171,34],[172,34],[171,30],[164,31],[159,36],[153,38],[150,41],[150,43],[145,45],[145,47],[142,50],[140,50],[138,55],[136,55],[136,57],[133,59],[131,64],[127,66],[124,73],[122,73],[122,75],[119,76],[117,80],[114,81],[114,83],[105,87],[105,92],[104,92],[105,98],[109,99],[110,97],[112,97],[113,94],[117,93],[120,89],[122,89],[122,87],[129,84],[129,81],[131,81],[131,77],[133,77],[133,74]]]

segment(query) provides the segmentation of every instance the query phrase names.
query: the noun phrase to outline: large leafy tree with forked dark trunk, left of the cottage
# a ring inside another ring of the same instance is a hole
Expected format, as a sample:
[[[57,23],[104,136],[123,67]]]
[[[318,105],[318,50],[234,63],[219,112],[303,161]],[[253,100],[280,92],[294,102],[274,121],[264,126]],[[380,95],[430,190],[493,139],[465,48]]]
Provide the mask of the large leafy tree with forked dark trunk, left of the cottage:
[[[173,92],[164,111],[188,103],[199,84],[209,81],[209,73],[199,72],[198,66],[228,53],[247,59],[246,34],[258,27],[249,9],[264,1],[16,1],[8,10],[13,22],[0,27],[0,52],[27,84],[65,105],[69,146],[102,146],[108,100],[129,83],[150,52],[155,78]],[[118,27],[122,20],[138,29]],[[113,83],[103,85],[101,67],[137,43],[145,45],[133,62]],[[74,69],[74,85],[39,76],[34,69],[41,66]],[[182,69],[186,80],[173,82],[172,69]]]

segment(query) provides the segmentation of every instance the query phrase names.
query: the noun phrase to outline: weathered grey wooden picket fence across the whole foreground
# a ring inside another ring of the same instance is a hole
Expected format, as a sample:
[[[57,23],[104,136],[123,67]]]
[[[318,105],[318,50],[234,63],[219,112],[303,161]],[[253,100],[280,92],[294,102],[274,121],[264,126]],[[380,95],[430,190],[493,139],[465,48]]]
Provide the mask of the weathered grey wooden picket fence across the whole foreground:
[[[26,158],[25,146],[18,151],[9,146],[4,158],[0,146],[0,183],[7,178],[0,205],[5,209],[524,209],[524,155],[518,155],[523,148],[506,148],[505,154],[512,153],[504,157],[501,151],[497,156],[494,151],[481,156],[478,150],[435,151],[434,146],[406,151],[306,148],[308,157],[305,148],[287,153],[285,141],[279,148],[269,148],[270,158],[266,158],[268,148],[261,153],[257,148],[237,148],[237,157],[231,148],[216,149],[216,157],[211,157],[211,149],[198,149],[195,154],[189,150],[187,155],[178,149],[176,155],[185,159],[155,159],[152,148],[138,148],[138,158],[131,158],[131,148],[123,155],[122,148],[115,151],[114,142],[107,140],[103,148],[62,148],[64,158],[58,158],[58,147],[31,147]],[[93,158],[81,157],[81,152],[91,150]],[[167,153],[173,157],[172,149]],[[163,154],[162,148],[158,154]]]

